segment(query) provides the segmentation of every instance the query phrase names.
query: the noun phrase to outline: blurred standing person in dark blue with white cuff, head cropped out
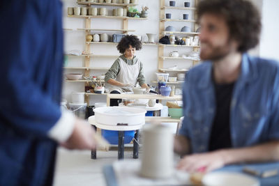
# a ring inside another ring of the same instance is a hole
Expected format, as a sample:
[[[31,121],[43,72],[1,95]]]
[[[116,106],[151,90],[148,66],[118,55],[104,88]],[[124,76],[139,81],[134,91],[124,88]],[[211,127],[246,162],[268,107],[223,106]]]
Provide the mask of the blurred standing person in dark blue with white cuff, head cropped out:
[[[0,185],[52,185],[56,148],[93,149],[89,123],[61,113],[59,0],[0,2]]]

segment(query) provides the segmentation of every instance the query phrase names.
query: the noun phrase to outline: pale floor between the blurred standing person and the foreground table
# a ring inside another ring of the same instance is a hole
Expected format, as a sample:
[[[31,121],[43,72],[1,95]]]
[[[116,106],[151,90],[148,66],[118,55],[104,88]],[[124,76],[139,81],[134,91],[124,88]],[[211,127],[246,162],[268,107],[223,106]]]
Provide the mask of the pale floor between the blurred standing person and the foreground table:
[[[125,159],[133,158],[133,151],[124,152]],[[97,151],[97,160],[91,160],[89,150],[59,148],[56,158],[54,186],[105,186],[103,166],[117,160],[117,150]]]

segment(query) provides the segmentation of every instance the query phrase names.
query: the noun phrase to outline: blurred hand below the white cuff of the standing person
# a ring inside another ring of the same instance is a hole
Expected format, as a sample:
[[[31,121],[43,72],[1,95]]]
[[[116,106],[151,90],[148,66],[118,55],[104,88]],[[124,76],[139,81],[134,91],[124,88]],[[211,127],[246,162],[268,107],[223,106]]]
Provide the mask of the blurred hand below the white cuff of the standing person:
[[[69,149],[92,150],[96,148],[94,135],[96,135],[96,133],[89,123],[76,118],[73,133],[65,143],[61,144],[61,146]]]

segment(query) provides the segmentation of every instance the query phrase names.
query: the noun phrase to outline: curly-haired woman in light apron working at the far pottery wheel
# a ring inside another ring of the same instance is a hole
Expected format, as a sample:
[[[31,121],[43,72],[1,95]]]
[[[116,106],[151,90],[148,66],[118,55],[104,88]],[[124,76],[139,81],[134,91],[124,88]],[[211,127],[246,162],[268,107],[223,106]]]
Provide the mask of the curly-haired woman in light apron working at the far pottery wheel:
[[[121,39],[117,49],[122,54],[105,74],[105,82],[110,84],[110,93],[124,93],[140,84],[149,89],[145,82],[142,62],[135,56],[137,50],[142,49],[142,42],[137,36],[127,35]],[[118,106],[117,99],[111,99],[110,106]]]

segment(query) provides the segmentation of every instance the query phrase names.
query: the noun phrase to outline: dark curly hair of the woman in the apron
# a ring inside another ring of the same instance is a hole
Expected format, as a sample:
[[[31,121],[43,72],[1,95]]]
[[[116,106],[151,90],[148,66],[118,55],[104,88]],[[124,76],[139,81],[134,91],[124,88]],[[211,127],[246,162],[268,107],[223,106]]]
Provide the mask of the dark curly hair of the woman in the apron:
[[[136,50],[142,49],[142,42],[140,42],[137,36],[133,35],[127,35],[123,37],[117,45],[117,49],[121,54],[124,54],[125,50],[128,49],[130,45]]]

